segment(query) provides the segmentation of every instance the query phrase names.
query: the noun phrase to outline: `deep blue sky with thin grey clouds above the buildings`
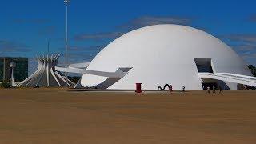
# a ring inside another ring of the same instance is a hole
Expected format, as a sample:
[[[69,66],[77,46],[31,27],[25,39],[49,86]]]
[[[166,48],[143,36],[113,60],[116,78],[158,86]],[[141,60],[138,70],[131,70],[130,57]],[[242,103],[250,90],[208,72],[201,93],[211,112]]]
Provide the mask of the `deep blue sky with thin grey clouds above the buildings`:
[[[73,0],[70,5],[70,63],[88,62],[104,46],[130,30],[159,23],[193,26],[231,46],[256,65],[256,2]],[[63,0],[3,1],[0,6],[0,56],[30,58],[64,52]],[[62,63],[62,59],[60,60]]]

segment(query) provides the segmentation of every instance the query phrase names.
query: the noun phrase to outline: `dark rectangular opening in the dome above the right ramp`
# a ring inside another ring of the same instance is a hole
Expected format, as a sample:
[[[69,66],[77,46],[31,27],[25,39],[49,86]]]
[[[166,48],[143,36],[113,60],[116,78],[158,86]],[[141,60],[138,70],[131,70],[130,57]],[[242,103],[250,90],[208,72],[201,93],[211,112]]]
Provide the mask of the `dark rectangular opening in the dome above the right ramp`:
[[[214,73],[210,58],[194,58],[199,73]]]

